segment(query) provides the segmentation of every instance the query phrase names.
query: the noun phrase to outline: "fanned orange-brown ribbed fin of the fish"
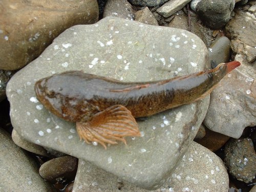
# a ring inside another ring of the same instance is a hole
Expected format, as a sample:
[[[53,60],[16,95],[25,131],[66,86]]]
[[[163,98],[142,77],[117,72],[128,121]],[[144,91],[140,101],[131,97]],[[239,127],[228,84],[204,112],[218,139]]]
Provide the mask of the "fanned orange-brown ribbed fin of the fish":
[[[97,142],[106,149],[105,143],[116,144],[116,140],[124,142],[126,136],[141,136],[138,124],[132,113],[122,105],[95,114],[89,122],[77,122],[77,133],[87,143]]]

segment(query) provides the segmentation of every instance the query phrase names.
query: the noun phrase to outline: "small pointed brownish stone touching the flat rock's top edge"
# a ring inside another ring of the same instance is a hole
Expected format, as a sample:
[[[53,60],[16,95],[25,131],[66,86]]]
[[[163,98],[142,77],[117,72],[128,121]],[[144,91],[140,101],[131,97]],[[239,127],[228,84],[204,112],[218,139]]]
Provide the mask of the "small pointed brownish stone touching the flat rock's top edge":
[[[137,11],[135,13],[135,20],[148,25],[158,26],[157,19],[154,17],[153,13],[145,7],[144,9]]]

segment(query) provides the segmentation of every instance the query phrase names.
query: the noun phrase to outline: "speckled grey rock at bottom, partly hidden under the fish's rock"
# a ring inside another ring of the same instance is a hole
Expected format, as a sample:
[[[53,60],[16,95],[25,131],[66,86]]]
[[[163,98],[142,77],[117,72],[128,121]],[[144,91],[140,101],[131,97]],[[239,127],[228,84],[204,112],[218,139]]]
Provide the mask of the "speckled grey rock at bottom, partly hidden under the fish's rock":
[[[164,186],[153,192],[228,191],[229,179],[224,163],[217,155],[196,142],[191,143],[181,163],[169,177]],[[91,163],[79,161],[73,192],[120,190],[148,191],[124,182]]]

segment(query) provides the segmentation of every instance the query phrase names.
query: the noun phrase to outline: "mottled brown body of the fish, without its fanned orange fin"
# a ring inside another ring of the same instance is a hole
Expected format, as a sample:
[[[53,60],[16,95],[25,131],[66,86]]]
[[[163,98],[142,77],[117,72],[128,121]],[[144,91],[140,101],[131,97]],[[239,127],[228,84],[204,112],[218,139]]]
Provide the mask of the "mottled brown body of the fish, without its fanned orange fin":
[[[232,61],[205,72],[150,82],[122,82],[68,71],[37,81],[35,92],[49,111],[71,122],[90,121],[113,105],[124,106],[134,117],[145,117],[203,98],[238,66],[240,62]]]

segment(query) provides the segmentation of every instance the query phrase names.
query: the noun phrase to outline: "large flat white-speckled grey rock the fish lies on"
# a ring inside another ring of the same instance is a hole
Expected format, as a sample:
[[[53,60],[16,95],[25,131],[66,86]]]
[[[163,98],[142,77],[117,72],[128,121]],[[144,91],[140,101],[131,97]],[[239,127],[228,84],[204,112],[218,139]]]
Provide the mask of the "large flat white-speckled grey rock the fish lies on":
[[[74,26],[9,81],[12,124],[31,142],[93,162],[142,188],[159,188],[194,139],[206,114],[208,97],[138,121],[143,137],[128,137],[127,145],[119,143],[104,150],[79,141],[74,123],[47,111],[35,97],[34,83],[68,70],[123,81],[167,79],[202,71],[207,64],[205,45],[185,30],[117,17]]]

